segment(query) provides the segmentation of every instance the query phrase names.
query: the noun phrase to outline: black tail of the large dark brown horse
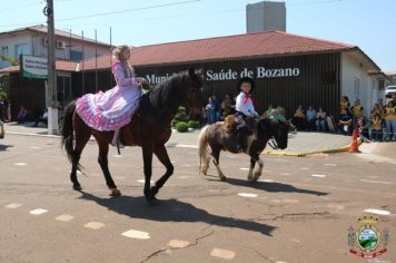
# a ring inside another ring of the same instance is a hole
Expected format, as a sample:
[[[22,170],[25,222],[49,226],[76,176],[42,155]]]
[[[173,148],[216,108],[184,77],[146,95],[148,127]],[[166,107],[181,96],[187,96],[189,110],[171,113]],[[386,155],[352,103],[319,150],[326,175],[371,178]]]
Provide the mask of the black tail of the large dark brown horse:
[[[71,101],[65,109],[63,115],[63,123],[62,123],[62,137],[61,144],[62,147],[66,149],[69,160],[73,162],[73,139],[75,139],[75,129],[73,129],[73,114],[76,110],[76,101]]]

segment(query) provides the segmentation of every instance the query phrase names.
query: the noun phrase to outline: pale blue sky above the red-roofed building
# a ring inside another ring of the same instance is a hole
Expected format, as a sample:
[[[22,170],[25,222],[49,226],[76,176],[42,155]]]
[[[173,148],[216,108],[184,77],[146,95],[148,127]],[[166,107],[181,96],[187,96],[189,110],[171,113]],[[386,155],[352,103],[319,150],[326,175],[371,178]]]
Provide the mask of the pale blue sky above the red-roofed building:
[[[257,1],[55,0],[55,16],[59,29],[88,37],[97,29],[98,40],[109,42],[111,27],[112,43],[142,46],[245,33],[245,7]],[[43,0],[2,0],[0,31],[44,23],[43,7]],[[286,8],[288,32],[356,45],[384,71],[396,70],[395,0],[286,0]],[[120,10],[130,11],[76,18]]]

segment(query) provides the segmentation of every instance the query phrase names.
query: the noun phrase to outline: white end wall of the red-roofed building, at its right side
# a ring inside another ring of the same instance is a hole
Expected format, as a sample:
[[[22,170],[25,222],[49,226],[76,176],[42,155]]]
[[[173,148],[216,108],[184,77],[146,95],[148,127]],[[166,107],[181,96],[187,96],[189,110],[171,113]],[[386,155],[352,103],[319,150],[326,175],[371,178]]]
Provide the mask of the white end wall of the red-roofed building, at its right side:
[[[355,89],[357,81],[359,84],[358,94]],[[347,96],[350,105],[354,105],[356,98],[360,99],[366,117],[369,116],[374,104],[380,98],[377,78],[368,75],[360,61],[346,52],[341,53],[341,96]]]

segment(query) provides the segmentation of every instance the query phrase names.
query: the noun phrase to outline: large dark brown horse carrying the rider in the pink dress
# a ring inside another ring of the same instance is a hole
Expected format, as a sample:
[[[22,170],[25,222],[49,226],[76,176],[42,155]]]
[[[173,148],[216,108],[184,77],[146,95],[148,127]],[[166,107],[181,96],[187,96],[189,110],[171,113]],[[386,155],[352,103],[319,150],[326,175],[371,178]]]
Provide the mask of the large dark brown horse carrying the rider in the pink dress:
[[[201,113],[201,72],[197,72],[195,69],[172,76],[142,96],[139,109],[132,117],[131,123],[120,129],[120,142],[123,145],[140,146],[142,149],[145,162],[143,193],[148,201],[156,198],[158,191],[174,173],[174,166],[165,146],[171,135],[170,121],[179,106],[185,106],[196,114]],[[99,145],[98,162],[103,172],[106,184],[111,191],[110,195],[118,196],[121,194],[108,167],[107,156],[113,134],[115,132],[99,132],[87,126],[76,113],[76,103],[71,103],[66,108],[62,146],[72,165],[70,179],[73,189],[81,189],[77,179],[77,171],[80,169],[79,160],[82,149],[92,135]],[[76,143],[73,143],[75,137]],[[152,154],[165,165],[167,171],[154,186],[150,186]]]

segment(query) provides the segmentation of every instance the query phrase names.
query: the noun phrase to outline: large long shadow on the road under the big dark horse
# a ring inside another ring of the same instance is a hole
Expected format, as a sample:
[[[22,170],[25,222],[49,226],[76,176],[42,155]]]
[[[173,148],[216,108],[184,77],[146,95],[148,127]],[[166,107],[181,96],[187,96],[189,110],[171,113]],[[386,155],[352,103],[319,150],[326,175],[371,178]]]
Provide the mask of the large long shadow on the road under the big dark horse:
[[[107,207],[109,211],[121,215],[127,215],[132,218],[143,218],[157,222],[180,222],[196,223],[204,222],[209,225],[222,227],[236,227],[246,231],[258,232],[264,235],[271,236],[271,232],[276,228],[267,224],[257,223],[248,220],[239,220],[214,215],[205,210],[198,208],[189,203],[178,199],[164,199],[159,205],[149,205],[145,197],[120,196],[116,198],[102,198],[81,192],[82,199],[92,201],[97,204]]]

